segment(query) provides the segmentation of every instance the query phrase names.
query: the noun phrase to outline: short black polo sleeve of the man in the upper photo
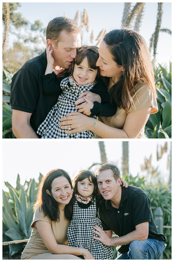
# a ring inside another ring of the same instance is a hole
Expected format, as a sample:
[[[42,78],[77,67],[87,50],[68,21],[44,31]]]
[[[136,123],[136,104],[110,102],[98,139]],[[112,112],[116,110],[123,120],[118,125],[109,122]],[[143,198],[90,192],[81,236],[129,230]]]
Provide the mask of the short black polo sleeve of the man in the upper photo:
[[[38,100],[38,80],[28,69],[21,68],[11,81],[11,109],[33,113]]]

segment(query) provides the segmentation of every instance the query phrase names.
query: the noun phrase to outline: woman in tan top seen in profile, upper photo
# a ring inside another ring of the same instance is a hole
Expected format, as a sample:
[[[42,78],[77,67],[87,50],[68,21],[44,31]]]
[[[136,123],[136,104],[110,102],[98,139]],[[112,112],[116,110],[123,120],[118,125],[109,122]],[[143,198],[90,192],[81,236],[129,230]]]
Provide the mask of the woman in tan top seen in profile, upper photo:
[[[150,114],[158,112],[158,105],[150,52],[143,37],[129,28],[110,31],[100,44],[96,65],[105,77],[108,100],[117,106],[116,114],[94,121],[70,113],[61,119],[61,128],[67,134],[93,130],[95,138],[146,138],[145,124]],[[98,95],[84,92],[76,105],[85,102],[86,95],[101,101]],[[69,127],[72,130],[67,130]]]

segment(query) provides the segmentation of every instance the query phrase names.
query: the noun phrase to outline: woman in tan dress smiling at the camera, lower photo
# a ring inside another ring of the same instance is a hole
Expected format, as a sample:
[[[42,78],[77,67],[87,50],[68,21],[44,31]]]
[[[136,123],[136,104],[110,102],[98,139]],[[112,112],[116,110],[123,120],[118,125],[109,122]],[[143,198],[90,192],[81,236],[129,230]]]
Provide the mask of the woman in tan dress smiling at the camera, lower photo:
[[[62,169],[42,178],[34,204],[32,232],[21,259],[94,259],[85,248],[68,246],[67,230],[73,216],[72,183]]]

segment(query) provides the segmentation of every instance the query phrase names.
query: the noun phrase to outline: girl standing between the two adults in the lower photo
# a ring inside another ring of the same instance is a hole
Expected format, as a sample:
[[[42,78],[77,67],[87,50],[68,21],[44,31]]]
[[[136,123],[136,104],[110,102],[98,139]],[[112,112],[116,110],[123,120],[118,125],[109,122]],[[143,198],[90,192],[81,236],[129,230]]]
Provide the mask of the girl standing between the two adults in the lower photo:
[[[89,170],[80,171],[73,181],[73,194],[76,201],[67,232],[69,245],[88,249],[95,259],[112,259],[111,247],[93,238],[96,237],[93,227],[102,228],[97,218],[101,199],[95,174]]]

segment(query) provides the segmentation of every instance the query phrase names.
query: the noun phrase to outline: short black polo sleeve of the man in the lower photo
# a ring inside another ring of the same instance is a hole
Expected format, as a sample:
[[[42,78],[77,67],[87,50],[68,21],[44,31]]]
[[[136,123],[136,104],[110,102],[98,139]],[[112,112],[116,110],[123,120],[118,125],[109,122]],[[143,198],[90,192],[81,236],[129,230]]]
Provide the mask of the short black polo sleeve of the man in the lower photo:
[[[135,226],[151,222],[151,207],[148,196],[144,193],[139,194],[133,200],[132,205],[132,220]]]

